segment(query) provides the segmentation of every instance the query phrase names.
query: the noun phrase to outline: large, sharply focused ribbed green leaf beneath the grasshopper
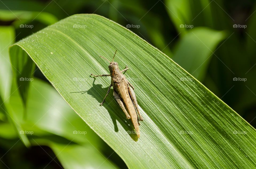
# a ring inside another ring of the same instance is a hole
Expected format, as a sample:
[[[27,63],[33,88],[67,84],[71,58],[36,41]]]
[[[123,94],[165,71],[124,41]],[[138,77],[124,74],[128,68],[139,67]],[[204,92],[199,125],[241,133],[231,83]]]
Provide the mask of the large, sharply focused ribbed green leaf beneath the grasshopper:
[[[129,134],[133,126],[114,101],[113,90],[99,106],[110,78],[89,76],[108,72],[98,55],[111,59],[115,49],[120,68],[130,67],[126,77],[145,119],[138,141]],[[13,45],[13,65],[26,53],[130,168],[255,166],[255,129],[169,57],[111,20],[70,16]],[[86,93],[70,93],[76,91]]]

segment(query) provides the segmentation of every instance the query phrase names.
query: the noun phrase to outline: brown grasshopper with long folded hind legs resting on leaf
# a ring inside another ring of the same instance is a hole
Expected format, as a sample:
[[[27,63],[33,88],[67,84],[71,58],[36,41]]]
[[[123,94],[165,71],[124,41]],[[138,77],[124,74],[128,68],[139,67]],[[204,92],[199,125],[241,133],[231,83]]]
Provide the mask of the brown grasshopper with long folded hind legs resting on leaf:
[[[117,50],[115,51],[115,54],[117,53]],[[114,54],[114,57],[115,57]],[[100,56],[102,57],[102,56]],[[103,59],[106,59],[109,64],[109,71],[110,74],[102,74],[102,75],[93,75],[94,77],[98,76],[111,76],[111,84],[107,90],[107,94],[105,98],[103,99],[102,103],[105,101],[107,95],[109,94],[111,86],[113,86],[113,95],[115,100],[117,100],[117,103],[122,108],[123,112],[126,115],[127,119],[131,119],[134,128],[136,130],[137,136],[139,138],[140,132],[139,132],[139,121],[142,121],[143,118],[141,114],[139,113],[138,103],[137,99],[134,93],[134,87],[133,85],[125,78],[125,75],[122,74],[122,72],[128,70],[129,68],[126,66],[125,69],[119,70],[117,62],[114,62],[114,57],[112,61],[110,62],[106,58],[102,57]],[[130,85],[130,86],[129,86]],[[137,111],[137,112],[136,112]]]

